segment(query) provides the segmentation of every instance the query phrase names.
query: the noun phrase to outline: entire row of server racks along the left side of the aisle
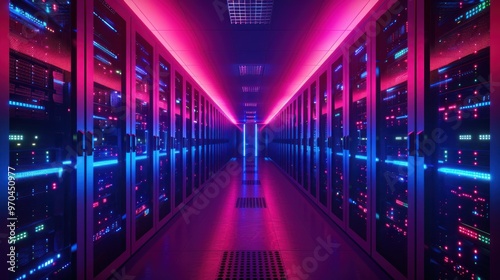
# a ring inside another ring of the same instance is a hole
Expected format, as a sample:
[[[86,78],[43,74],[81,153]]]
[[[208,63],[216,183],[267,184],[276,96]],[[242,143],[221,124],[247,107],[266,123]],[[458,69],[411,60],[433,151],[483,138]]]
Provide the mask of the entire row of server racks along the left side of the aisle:
[[[15,257],[0,278],[121,275],[229,160],[237,128],[123,2],[8,5]]]

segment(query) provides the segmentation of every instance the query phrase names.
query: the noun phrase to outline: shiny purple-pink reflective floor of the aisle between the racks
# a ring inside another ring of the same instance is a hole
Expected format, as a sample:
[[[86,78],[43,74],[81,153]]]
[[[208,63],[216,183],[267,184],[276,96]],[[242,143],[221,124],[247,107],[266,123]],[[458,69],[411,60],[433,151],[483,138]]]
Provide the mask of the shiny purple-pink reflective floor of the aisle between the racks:
[[[279,252],[289,280],[389,279],[272,161],[229,162],[185,209],[116,272],[121,279],[285,279],[220,277],[224,252],[234,251]]]

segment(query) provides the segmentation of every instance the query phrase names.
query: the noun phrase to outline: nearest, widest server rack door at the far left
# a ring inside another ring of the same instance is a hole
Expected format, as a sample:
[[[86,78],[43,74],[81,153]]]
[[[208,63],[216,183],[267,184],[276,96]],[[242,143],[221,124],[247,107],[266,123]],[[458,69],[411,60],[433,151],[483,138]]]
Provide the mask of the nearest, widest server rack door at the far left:
[[[72,139],[77,111],[74,5],[65,1],[46,9],[43,3],[9,2],[9,68],[4,72],[9,77],[9,167],[2,178],[8,179],[5,205],[15,233],[15,246],[9,239],[16,250],[9,265],[15,271],[9,272],[12,279],[77,276],[71,248],[77,242],[75,168],[82,161],[77,163]]]

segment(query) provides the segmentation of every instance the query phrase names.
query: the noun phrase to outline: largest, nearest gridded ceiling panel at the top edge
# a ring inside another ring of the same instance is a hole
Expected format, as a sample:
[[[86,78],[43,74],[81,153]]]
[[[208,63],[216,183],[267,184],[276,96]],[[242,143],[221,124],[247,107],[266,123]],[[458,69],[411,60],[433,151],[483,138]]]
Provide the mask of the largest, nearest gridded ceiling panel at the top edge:
[[[227,0],[231,24],[270,24],[274,0]]]

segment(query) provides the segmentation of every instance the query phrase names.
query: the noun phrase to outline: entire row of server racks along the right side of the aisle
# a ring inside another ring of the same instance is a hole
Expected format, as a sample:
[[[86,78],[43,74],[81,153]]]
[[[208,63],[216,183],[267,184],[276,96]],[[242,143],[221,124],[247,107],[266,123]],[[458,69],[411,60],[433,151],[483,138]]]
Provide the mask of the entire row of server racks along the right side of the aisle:
[[[382,1],[263,129],[267,155],[396,279],[500,277],[490,10]]]

